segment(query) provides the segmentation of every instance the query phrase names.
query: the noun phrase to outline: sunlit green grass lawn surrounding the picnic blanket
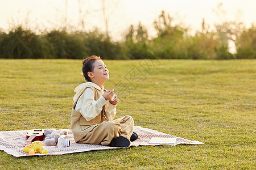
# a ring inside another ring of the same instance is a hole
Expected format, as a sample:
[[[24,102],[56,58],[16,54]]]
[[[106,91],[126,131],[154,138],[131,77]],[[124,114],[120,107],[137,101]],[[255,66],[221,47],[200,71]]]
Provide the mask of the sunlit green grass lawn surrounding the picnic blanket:
[[[0,169],[255,169],[256,60],[105,63],[117,117],[205,144],[26,158],[0,151]],[[1,131],[70,129],[81,60],[0,59],[0,82]]]

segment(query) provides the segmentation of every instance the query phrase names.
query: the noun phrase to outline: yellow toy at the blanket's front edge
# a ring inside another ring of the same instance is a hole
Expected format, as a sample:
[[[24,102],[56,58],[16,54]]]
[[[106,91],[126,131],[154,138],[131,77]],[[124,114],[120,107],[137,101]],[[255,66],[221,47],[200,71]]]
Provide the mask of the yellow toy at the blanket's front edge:
[[[48,154],[47,148],[44,147],[41,141],[28,143],[28,145],[23,148],[23,151],[28,153],[28,155],[34,155],[35,152],[39,152],[40,154]]]

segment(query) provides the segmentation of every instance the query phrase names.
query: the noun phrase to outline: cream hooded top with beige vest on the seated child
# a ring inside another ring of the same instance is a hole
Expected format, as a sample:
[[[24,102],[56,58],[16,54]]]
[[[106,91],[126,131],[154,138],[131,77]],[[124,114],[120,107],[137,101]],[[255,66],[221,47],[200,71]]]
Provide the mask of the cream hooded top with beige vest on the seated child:
[[[71,114],[71,130],[75,141],[85,137],[94,127],[114,119],[115,105],[102,96],[106,90],[92,82],[82,83],[75,88]]]

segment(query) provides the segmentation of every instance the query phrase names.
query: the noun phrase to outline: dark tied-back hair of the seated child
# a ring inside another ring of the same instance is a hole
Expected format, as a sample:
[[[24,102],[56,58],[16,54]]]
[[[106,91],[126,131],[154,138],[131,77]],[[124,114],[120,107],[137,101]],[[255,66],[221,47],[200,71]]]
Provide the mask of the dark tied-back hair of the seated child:
[[[91,82],[87,73],[93,71],[93,69],[94,69],[93,63],[97,59],[102,60],[101,57],[94,56],[94,55],[82,60],[82,73],[84,74],[84,78],[87,82]]]

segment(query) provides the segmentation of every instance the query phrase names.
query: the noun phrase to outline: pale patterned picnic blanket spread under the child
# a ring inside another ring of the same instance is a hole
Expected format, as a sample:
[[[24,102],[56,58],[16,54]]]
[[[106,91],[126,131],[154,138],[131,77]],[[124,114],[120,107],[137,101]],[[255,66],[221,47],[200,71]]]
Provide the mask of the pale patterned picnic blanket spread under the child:
[[[68,131],[67,139],[71,141],[71,146],[64,148],[57,148],[57,146],[45,146],[49,153],[48,154],[39,154],[35,155],[62,155],[62,154],[71,154],[74,152],[85,152],[92,150],[109,150],[119,147],[109,147],[102,145],[89,145],[89,144],[80,144],[76,143],[73,138],[73,132],[70,129],[65,129]],[[204,144],[199,141],[189,141],[184,138],[175,137],[174,135],[165,134],[156,130],[142,128],[141,126],[135,126],[134,132],[138,134],[138,139],[134,142],[131,142],[131,146],[147,146],[152,145],[149,143],[152,137],[159,138],[176,138],[174,145],[201,145]],[[20,156],[34,156],[28,155],[23,152],[24,144],[26,143],[26,130],[19,131],[0,131],[0,150],[5,151],[7,154],[11,154],[15,157]],[[160,144],[157,144],[160,145]]]

